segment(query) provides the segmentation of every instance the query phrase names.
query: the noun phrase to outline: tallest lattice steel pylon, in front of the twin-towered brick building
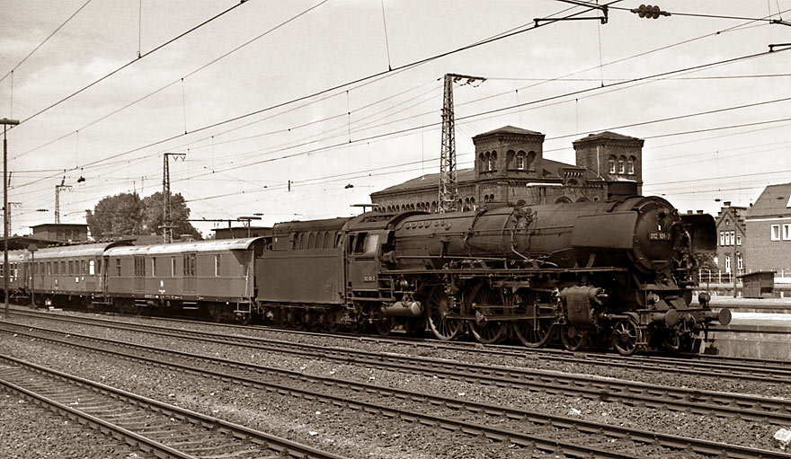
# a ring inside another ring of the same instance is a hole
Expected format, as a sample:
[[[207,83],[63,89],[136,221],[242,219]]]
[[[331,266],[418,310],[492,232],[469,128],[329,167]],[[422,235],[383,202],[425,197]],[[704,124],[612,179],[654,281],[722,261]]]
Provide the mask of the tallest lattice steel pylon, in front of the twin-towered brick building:
[[[445,93],[442,101],[442,138],[440,146],[440,196],[437,211],[440,214],[458,208],[458,176],[456,172],[456,117],[453,113],[453,84],[467,80],[483,83],[481,76],[445,74]]]

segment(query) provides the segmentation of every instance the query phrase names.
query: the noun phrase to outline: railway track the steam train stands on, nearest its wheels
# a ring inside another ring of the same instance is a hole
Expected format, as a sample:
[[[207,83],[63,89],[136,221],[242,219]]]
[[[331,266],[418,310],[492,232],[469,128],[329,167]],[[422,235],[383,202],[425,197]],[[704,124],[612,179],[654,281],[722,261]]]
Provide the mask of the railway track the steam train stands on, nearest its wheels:
[[[49,313],[34,313],[27,310],[14,311],[15,314],[26,315],[38,318],[51,317]],[[66,316],[68,317],[68,316]],[[168,322],[183,324],[206,325],[207,322],[196,322],[178,319],[164,319]],[[117,324],[117,321],[106,319],[89,319],[90,322],[102,324]],[[81,320],[79,322],[85,322]],[[121,322],[128,323],[128,322]],[[135,326],[135,324],[129,324]],[[148,325],[146,325],[148,326]],[[154,325],[152,325],[154,326]],[[218,327],[230,328],[239,331],[267,330],[276,332],[288,332],[292,335],[329,337],[337,340],[349,340],[350,342],[371,342],[377,344],[387,344],[398,348],[425,348],[425,349],[449,349],[454,351],[465,351],[473,354],[488,355],[493,357],[527,357],[547,362],[564,362],[569,364],[582,364],[591,366],[609,366],[617,368],[628,368],[642,372],[656,374],[673,373],[678,375],[691,375],[701,377],[716,377],[733,381],[755,381],[758,383],[769,384],[789,384],[791,383],[791,361],[779,361],[760,358],[737,358],[721,356],[701,356],[686,355],[684,357],[668,357],[662,355],[652,356],[631,356],[623,357],[612,353],[601,352],[568,352],[561,349],[528,349],[521,346],[508,345],[489,345],[481,347],[474,342],[465,341],[440,341],[414,339],[410,337],[373,337],[360,335],[327,334],[315,331],[283,331],[282,329],[245,326],[235,324],[222,324]],[[169,330],[163,327],[164,330]]]

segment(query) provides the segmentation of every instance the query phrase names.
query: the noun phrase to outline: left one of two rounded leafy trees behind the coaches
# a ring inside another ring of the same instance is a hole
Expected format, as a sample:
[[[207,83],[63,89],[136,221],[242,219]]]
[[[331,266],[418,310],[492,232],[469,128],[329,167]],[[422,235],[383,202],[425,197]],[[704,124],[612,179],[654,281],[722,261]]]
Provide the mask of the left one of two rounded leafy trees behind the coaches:
[[[94,239],[141,234],[143,231],[143,201],[137,193],[120,193],[102,199],[85,216]]]

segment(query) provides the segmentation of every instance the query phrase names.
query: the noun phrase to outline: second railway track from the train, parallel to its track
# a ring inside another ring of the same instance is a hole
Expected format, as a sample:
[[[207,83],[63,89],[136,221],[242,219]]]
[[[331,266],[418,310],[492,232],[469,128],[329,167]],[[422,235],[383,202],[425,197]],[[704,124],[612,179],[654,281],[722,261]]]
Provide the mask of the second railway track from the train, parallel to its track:
[[[61,316],[62,317],[62,316]],[[67,319],[71,322],[72,319]],[[77,321],[82,323],[81,321]],[[260,352],[278,351],[296,357],[323,357],[356,366],[371,366],[397,372],[436,376],[449,380],[511,387],[539,393],[582,396],[592,400],[622,402],[631,406],[646,406],[657,410],[679,410],[702,415],[739,417],[753,421],[791,423],[791,401],[747,395],[719,393],[685,387],[646,384],[612,378],[575,375],[554,371],[486,366],[431,357],[378,353],[360,349],[327,348],[294,341],[269,340],[206,331],[167,329],[156,325],[101,321],[102,326],[124,331],[224,343],[255,349]],[[109,322],[109,323],[108,323]],[[39,329],[47,331],[47,329]],[[93,339],[85,336],[84,339]],[[98,340],[98,339],[97,339]]]

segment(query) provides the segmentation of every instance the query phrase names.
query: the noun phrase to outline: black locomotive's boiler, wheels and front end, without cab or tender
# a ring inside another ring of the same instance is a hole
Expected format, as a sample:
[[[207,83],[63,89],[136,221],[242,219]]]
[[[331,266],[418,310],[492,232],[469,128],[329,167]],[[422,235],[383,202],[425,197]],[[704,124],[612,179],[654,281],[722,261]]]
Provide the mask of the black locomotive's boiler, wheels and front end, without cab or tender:
[[[631,354],[689,350],[708,322],[730,322],[705,294],[690,305],[694,252],[715,249],[714,219],[680,216],[659,197],[484,207],[388,225],[380,278],[421,303],[413,310],[425,309],[442,340],[468,330],[484,343],[514,334],[538,347],[558,331],[568,349],[609,341]]]

